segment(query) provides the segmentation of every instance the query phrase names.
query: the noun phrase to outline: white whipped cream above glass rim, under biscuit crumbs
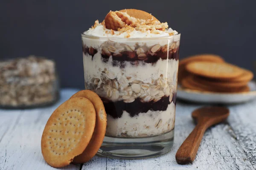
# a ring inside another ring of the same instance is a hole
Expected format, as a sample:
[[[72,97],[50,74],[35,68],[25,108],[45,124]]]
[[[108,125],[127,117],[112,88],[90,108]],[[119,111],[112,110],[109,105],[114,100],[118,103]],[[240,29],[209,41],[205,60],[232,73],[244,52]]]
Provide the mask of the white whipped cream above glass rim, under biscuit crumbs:
[[[95,28],[90,28],[89,30],[85,31],[83,34],[95,36],[95,37],[110,37],[110,38],[148,38],[148,37],[167,37],[169,34],[176,35],[178,34],[177,31],[172,30],[172,28],[169,28],[165,31],[155,30],[154,33],[151,33],[150,30],[147,30],[145,32],[143,31],[137,31],[133,30],[131,32],[119,32],[119,31],[113,31],[114,34],[109,33],[111,30],[105,28],[105,26],[102,26],[102,24],[99,24]]]

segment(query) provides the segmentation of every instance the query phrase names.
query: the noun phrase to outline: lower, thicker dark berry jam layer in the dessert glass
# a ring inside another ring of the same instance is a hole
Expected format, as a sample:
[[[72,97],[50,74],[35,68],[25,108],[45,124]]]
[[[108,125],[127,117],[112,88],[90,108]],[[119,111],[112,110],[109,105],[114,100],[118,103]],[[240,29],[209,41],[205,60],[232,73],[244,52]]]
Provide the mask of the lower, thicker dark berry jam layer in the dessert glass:
[[[172,102],[176,105],[176,95],[174,93],[172,96]],[[140,99],[135,99],[134,102],[125,103],[123,101],[111,102],[106,99],[102,99],[105,106],[105,111],[108,115],[111,115],[113,118],[122,117],[123,111],[126,111],[130,114],[131,117],[138,115],[139,113],[146,113],[150,111],[166,111],[168,105],[171,103],[169,101],[169,96],[162,97],[157,102],[141,102]]]

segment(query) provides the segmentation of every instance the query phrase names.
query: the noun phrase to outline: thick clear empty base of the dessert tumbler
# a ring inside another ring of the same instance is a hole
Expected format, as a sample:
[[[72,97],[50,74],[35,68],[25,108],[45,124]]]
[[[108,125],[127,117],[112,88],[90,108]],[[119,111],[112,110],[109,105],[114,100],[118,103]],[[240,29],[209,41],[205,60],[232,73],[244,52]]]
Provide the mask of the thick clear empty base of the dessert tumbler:
[[[174,129],[159,136],[115,138],[105,136],[97,155],[121,159],[141,159],[163,155],[171,150]]]

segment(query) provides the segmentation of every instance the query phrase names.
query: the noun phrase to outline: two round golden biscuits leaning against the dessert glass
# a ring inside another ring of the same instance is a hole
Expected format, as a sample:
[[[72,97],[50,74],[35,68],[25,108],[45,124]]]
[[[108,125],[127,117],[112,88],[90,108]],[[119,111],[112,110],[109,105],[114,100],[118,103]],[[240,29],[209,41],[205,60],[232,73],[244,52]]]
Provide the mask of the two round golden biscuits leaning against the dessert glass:
[[[41,139],[44,160],[52,167],[89,161],[99,150],[107,126],[102,100],[79,91],[50,116]]]

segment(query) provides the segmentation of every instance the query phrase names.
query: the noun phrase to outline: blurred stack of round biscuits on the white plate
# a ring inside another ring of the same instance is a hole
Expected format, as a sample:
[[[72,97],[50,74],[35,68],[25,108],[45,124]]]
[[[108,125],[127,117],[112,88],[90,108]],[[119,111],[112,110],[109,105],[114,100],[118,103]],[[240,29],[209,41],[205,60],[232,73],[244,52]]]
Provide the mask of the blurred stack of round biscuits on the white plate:
[[[178,82],[183,88],[218,93],[250,91],[253,73],[213,54],[195,55],[179,63]]]

